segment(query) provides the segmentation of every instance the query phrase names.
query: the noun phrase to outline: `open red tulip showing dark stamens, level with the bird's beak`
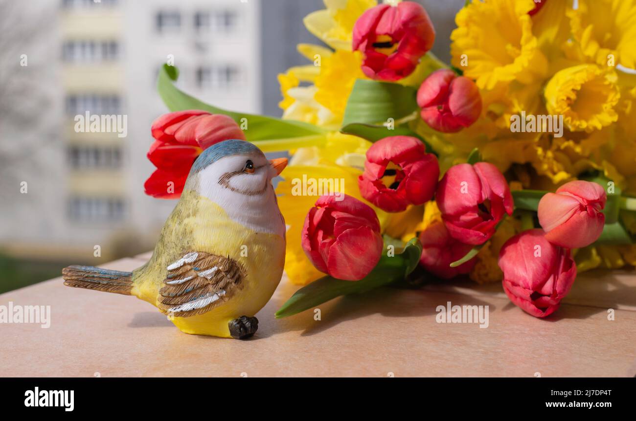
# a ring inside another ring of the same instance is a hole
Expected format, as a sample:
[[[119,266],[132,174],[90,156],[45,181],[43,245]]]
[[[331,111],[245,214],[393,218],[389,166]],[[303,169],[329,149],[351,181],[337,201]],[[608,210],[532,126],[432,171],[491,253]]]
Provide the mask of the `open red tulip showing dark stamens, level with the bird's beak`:
[[[435,155],[426,153],[415,137],[392,136],[366,151],[364,173],[358,178],[362,197],[387,212],[431,200],[439,178]]]

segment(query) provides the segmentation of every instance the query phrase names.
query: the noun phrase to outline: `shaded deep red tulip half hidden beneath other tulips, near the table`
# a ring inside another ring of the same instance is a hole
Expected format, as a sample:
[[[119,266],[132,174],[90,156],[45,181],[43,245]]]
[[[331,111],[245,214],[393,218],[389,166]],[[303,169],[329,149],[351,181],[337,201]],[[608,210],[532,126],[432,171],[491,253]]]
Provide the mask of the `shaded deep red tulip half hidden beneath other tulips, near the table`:
[[[446,226],[441,221],[429,225],[422,231],[420,242],[422,243],[420,265],[440,278],[451,279],[457,275],[468,273],[473,270],[475,263],[477,263],[477,260],[473,258],[456,268],[450,267],[453,261],[466,256],[473,246],[462,244],[450,237]]]

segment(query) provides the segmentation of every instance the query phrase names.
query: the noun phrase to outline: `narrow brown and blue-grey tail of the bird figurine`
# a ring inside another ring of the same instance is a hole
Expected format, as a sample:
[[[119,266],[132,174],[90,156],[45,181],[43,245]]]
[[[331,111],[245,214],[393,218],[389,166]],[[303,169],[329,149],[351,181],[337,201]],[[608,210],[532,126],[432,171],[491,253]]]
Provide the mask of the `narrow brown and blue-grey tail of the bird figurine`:
[[[64,278],[64,285],[69,287],[96,289],[123,295],[130,295],[132,291],[132,272],[94,266],[68,266],[62,269],[62,278]]]

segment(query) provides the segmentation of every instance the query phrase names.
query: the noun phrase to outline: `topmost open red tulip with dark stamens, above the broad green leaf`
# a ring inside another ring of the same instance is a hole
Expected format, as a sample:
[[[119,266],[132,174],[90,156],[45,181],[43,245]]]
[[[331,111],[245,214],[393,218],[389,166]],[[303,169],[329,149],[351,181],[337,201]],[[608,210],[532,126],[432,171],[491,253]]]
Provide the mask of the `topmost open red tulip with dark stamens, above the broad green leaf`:
[[[371,79],[396,81],[411,74],[431,50],[435,30],[420,4],[378,4],[354,25],[353,50],[364,54],[362,71]]]

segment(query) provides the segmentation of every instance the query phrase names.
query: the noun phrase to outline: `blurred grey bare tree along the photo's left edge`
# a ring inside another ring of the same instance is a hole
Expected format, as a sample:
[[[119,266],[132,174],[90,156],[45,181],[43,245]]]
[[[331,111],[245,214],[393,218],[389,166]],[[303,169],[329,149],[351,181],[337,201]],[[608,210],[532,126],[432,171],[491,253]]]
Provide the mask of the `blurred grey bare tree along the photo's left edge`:
[[[57,1],[0,0],[0,195],[17,190],[25,169],[45,171],[38,155],[57,136],[56,12]]]

